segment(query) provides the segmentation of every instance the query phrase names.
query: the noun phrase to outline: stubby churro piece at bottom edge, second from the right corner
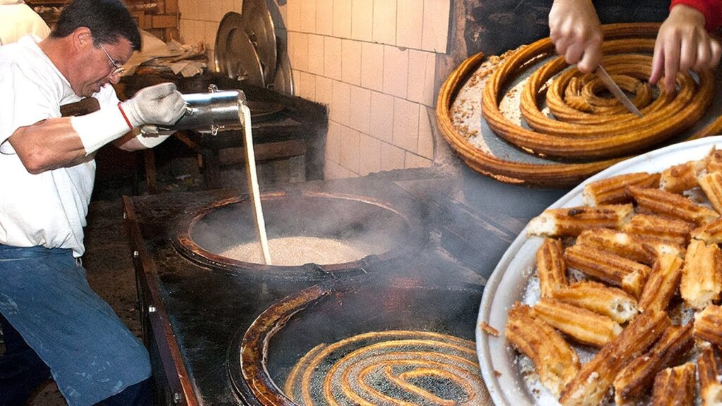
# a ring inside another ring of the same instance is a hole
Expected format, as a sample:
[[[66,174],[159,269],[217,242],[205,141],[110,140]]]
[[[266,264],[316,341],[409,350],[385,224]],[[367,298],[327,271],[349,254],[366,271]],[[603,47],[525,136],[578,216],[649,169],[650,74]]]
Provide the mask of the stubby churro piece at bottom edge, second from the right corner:
[[[695,404],[695,364],[666,368],[654,377],[652,406],[692,406]]]

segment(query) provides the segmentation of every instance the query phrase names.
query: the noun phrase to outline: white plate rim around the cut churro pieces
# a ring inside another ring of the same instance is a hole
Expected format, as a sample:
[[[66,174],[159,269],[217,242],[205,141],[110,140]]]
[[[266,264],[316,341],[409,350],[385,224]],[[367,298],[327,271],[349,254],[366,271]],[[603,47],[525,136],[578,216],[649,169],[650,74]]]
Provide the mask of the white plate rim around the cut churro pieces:
[[[712,147],[722,148],[722,136],[682,142],[633,157],[588,178],[549,208],[583,205],[581,195],[585,183],[622,173],[660,172],[671,165],[700,159]],[[477,354],[484,382],[497,406],[548,405],[553,400],[547,390],[541,394],[530,392],[516,363],[516,353],[504,335],[507,312],[513,303],[522,300],[529,277],[534,273],[536,250],[541,241],[539,237],[527,237],[525,227],[502,256],[484,288],[477,320]],[[497,329],[499,337],[482,332],[479,329],[482,321]]]

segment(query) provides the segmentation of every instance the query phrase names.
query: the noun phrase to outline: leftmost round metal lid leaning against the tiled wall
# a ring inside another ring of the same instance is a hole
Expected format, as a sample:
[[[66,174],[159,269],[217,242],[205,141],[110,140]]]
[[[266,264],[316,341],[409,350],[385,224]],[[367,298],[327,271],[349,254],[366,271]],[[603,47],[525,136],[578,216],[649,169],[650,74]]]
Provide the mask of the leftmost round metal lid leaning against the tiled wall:
[[[218,72],[251,85],[266,87],[263,65],[251,38],[243,30],[243,22],[237,12],[228,12],[223,16],[218,25],[214,53]]]

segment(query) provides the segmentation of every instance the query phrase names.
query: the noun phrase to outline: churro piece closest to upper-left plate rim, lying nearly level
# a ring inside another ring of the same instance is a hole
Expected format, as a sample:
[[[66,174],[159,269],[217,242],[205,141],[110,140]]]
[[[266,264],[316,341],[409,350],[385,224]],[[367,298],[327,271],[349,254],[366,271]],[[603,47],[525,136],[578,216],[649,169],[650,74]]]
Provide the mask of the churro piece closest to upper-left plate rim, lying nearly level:
[[[587,183],[582,199],[587,206],[629,203],[632,202],[632,196],[627,192],[629,186],[656,188],[659,186],[659,173],[625,173]]]

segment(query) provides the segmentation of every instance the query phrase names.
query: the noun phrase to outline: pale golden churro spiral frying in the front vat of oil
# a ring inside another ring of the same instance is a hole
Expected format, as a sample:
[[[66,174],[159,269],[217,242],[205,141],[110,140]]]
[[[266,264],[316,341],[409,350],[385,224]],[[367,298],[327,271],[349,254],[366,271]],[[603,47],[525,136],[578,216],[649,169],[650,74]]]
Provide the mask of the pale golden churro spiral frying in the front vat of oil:
[[[314,347],[287,377],[305,406],[484,405],[474,342],[434,332],[370,332]]]

